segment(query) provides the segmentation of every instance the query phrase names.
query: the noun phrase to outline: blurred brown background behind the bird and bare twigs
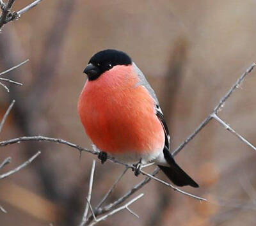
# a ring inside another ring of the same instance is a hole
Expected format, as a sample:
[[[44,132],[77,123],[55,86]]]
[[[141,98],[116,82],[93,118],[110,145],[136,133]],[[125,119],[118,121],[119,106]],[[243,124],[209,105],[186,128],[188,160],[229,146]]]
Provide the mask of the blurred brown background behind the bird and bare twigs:
[[[14,10],[29,3],[16,1]],[[175,149],[256,60],[255,7],[253,0],[42,1],[0,34],[0,72],[30,59],[8,74],[24,86],[11,86],[10,93],[0,89],[1,117],[16,100],[1,140],[45,135],[92,148],[77,114],[82,72],[95,52],[113,48],[127,52],[152,84]],[[219,114],[252,144],[255,84],[253,71]],[[38,150],[35,162],[1,180],[0,204],[8,211],[0,213],[1,225],[77,225],[96,156],[83,153],[79,159],[76,150],[60,144],[20,143],[1,148],[0,161],[12,156],[3,172]],[[208,202],[150,181],[141,190],[145,197],[131,206],[140,219],[122,211],[99,225],[255,225],[255,151],[212,120],[176,160],[200,185],[184,190]],[[97,161],[93,206],[123,170]],[[127,172],[108,202],[143,178]]]

